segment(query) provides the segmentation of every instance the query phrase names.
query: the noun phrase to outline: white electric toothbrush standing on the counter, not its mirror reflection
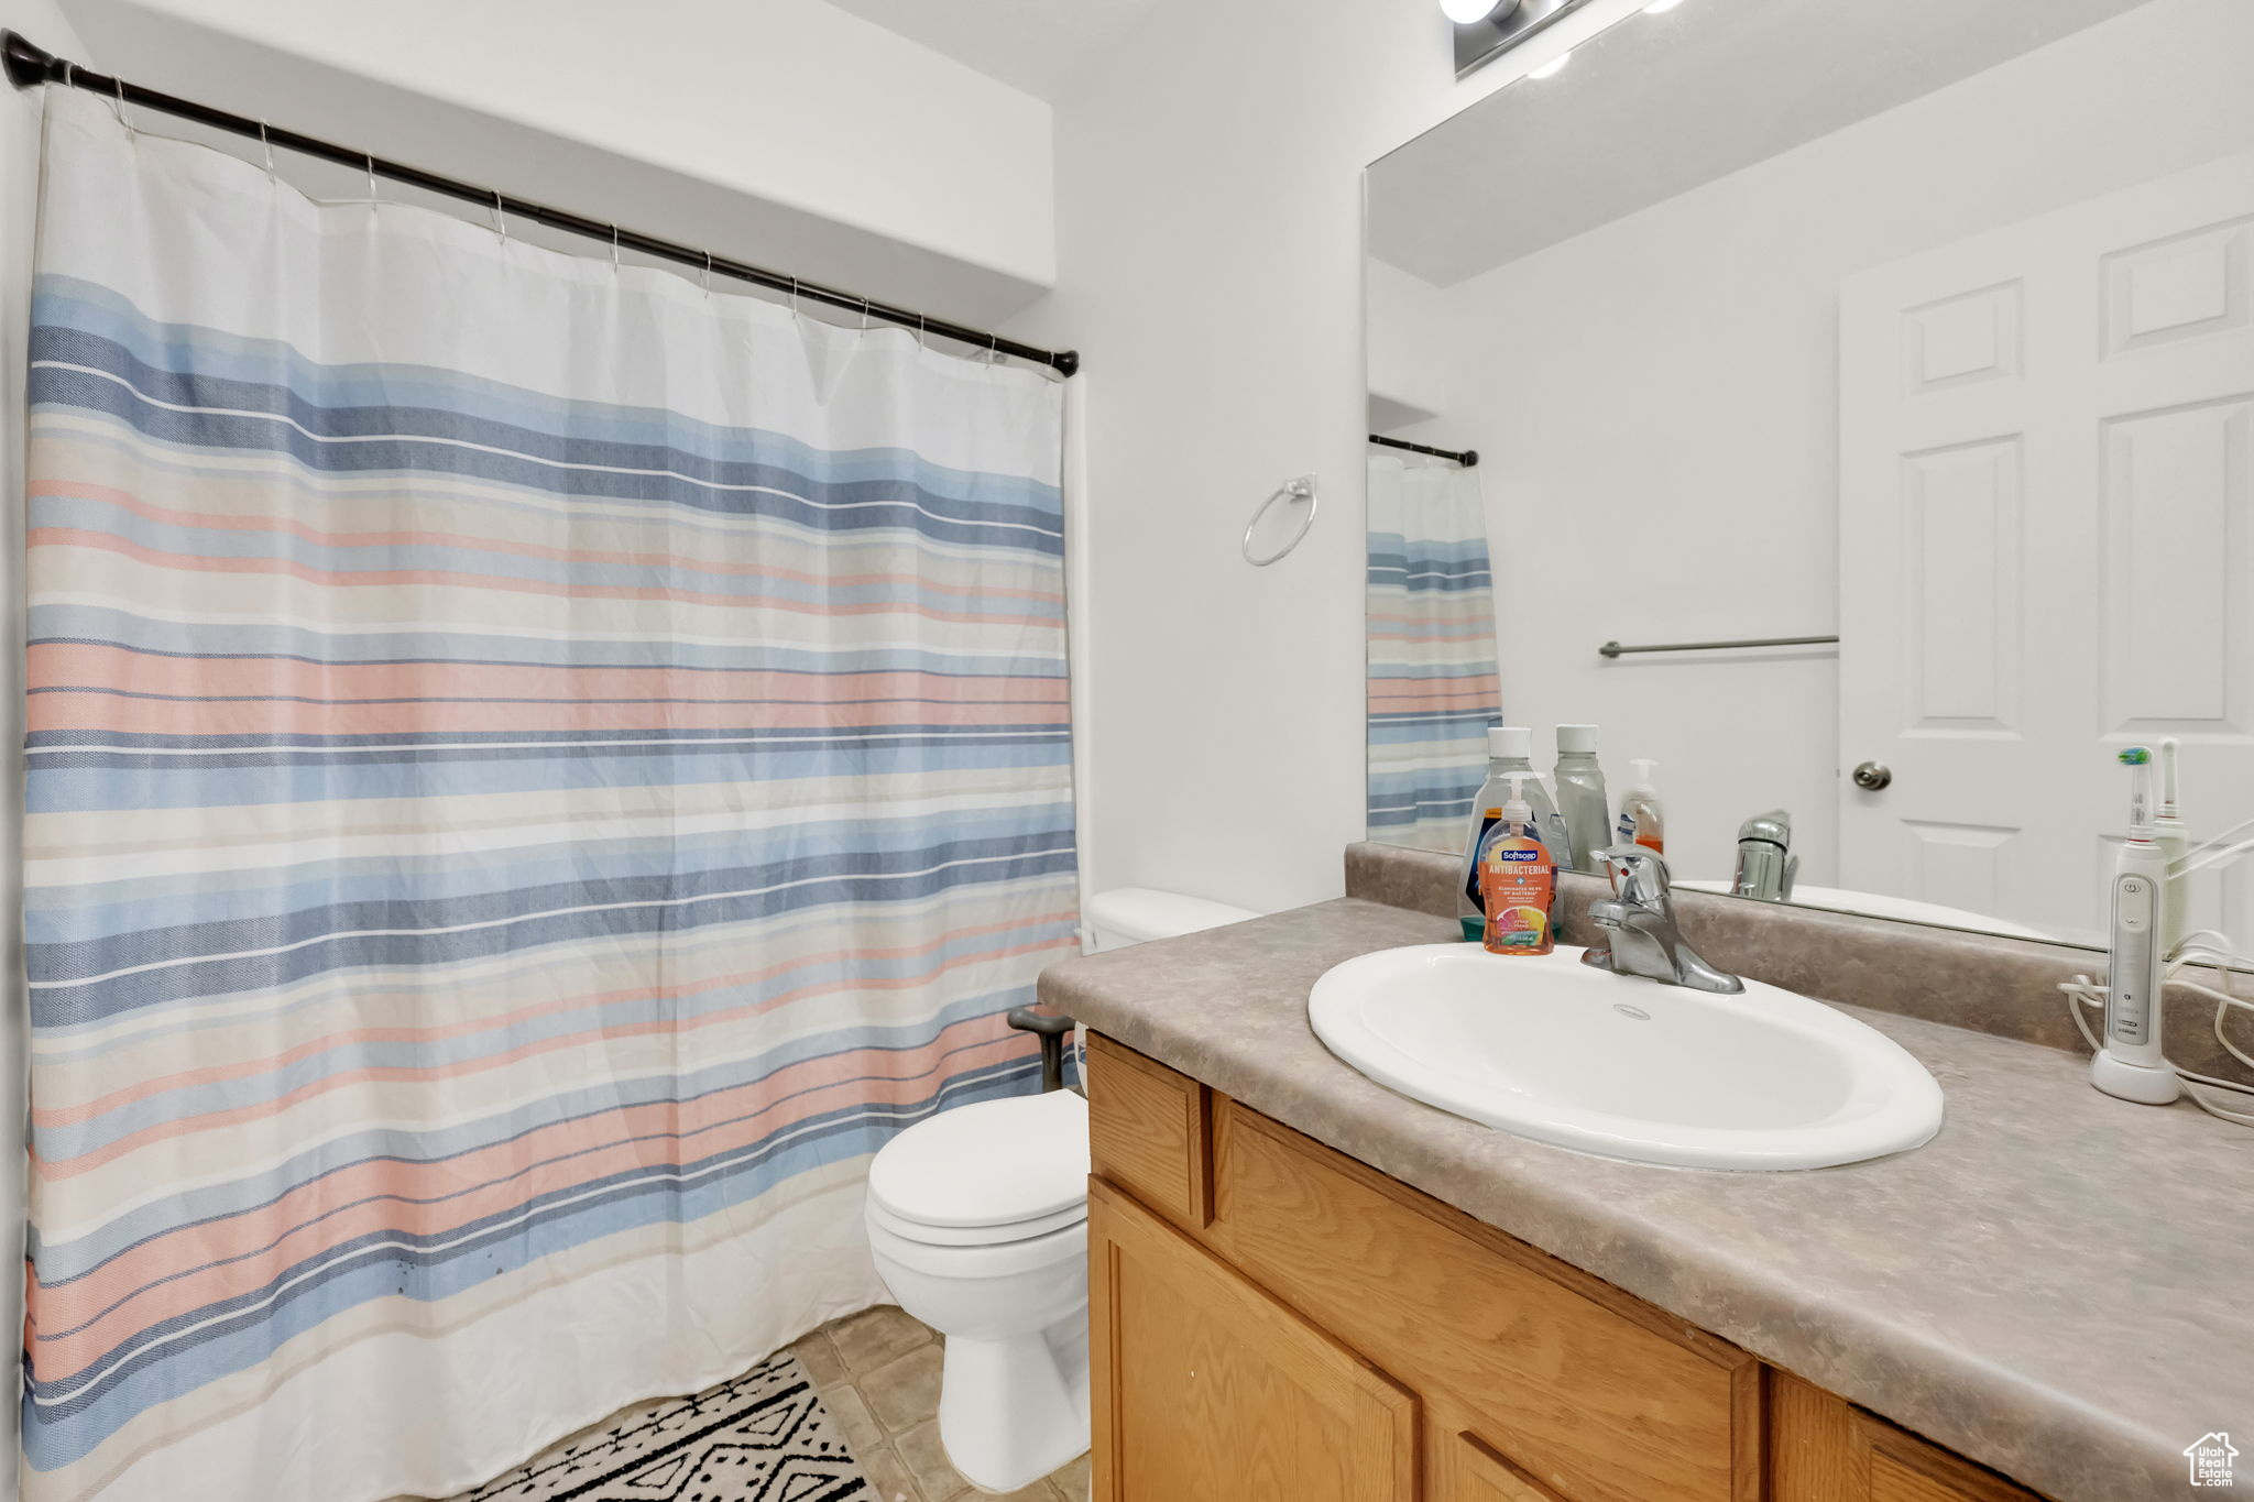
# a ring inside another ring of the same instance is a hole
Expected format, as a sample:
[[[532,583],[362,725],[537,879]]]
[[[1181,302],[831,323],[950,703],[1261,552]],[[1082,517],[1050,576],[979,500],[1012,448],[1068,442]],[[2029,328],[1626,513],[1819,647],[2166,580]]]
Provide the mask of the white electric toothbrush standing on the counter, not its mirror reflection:
[[[2166,1106],[2184,1092],[2159,1052],[2159,986],[2168,930],[2168,853],[2153,817],[2153,752],[2121,752],[2130,770],[2128,842],[2114,858],[2112,950],[2105,968],[2105,1047],[2089,1083],[2123,1101]],[[2173,763],[2173,757],[2171,757]]]

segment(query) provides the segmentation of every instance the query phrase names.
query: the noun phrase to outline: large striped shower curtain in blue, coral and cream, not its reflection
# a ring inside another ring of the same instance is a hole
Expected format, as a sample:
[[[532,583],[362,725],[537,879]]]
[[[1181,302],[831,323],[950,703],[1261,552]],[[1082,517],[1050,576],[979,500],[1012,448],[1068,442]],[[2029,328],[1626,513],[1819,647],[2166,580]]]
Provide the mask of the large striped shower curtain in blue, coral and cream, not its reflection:
[[[47,135],[27,1497],[449,1495],[879,1299],[1077,950],[1057,387]]]

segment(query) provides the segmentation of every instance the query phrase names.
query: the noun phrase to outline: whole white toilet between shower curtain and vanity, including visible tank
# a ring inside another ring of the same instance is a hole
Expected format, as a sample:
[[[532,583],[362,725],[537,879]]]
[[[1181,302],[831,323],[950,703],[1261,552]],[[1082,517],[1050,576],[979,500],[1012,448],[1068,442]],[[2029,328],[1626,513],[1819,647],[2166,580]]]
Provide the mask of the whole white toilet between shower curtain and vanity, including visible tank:
[[[1095,948],[1260,917],[1177,892],[1089,901]],[[899,1306],[947,1338],[940,1441],[1017,1491],[1089,1448],[1089,1103],[1071,1090],[942,1110],[868,1169],[868,1243]]]

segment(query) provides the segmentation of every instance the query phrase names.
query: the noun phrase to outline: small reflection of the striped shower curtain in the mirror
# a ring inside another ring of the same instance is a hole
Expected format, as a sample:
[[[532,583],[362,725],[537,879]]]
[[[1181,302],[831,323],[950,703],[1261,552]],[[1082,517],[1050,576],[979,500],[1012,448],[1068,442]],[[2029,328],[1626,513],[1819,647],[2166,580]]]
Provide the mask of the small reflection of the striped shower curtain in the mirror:
[[[1479,471],[1370,457],[1368,831],[1463,849],[1501,721]]]

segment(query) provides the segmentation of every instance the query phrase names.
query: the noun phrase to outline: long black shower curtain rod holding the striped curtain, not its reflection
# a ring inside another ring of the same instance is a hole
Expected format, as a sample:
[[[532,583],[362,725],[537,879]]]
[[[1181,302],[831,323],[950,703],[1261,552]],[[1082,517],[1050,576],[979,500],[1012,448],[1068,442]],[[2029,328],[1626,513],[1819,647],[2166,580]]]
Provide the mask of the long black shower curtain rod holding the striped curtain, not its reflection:
[[[167,115],[178,115],[183,119],[194,119],[196,124],[212,126],[214,131],[232,131],[234,135],[248,135],[261,140],[268,146],[284,146],[300,155],[313,155],[325,162],[336,162],[338,167],[358,167],[376,178],[390,178],[392,182],[408,182],[431,194],[444,194],[446,198],[460,198],[462,203],[478,203],[489,209],[500,209],[500,214],[514,214],[518,218],[530,218],[543,223],[550,230],[568,230],[573,234],[584,234],[597,241],[611,241],[622,250],[638,250],[642,254],[660,257],[665,261],[678,261],[681,266],[694,266],[703,272],[719,272],[724,277],[735,277],[737,281],[751,281],[764,286],[773,293],[789,293],[791,297],[805,297],[807,302],[820,302],[832,309],[845,309],[848,313],[861,313],[863,318],[877,318],[888,324],[899,324],[902,329],[915,329],[917,333],[938,333],[940,338],[956,340],[960,345],[974,345],[978,349],[992,349],[996,354],[1014,356],[1019,360],[1032,360],[1035,365],[1046,365],[1059,376],[1071,376],[1080,369],[1077,349],[1037,349],[1032,345],[1019,345],[1017,340],[1005,340],[996,333],[985,333],[980,329],[965,329],[962,324],[947,322],[944,318],[926,318],[913,309],[895,309],[881,302],[870,302],[868,297],[854,297],[852,293],[841,293],[836,288],[818,286],[814,281],[800,281],[798,277],[784,277],[775,270],[762,270],[757,266],[746,266],[744,261],[730,261],[717,257],[710,250],[694,250],[676,241],[660,241],[654,234],[636,234],[633,230],[622,230],[620,225],[606,225],[597,218],[586,218],[584,214],[570,214],[566,209],[550,209],[543,203],[530,203],[525,198],[509,198],[491,187],[478,187],[473,182],[458,182],[455,178],[442,178],[435,171],[424,171],[421,167],[408,167],[406,162],[388,162],[367,151],[352,151],[349,146],[336,146],[311,135],[298,135],[295,131],[279,131],[266,126],[257,119],[246,119],[243,115],[230,115],[225,110],[214,110],[207,104],[196,104],[192,99],[178,99],[153,88],[142,88],[140,83],[126,83],[124,79],[113,79],[108,74],[79,68],[65,59],[54,56],[45,47],[27,41],[16,32],[0,32],[0,50],[7,54],[7,77],[16,88],[32,88],[34,83],[68,83],[72,88],[83,88],[88,92],[101,95],[106,99],[117,99],[124,106],[140,106],[147,110],[162,110]]]

